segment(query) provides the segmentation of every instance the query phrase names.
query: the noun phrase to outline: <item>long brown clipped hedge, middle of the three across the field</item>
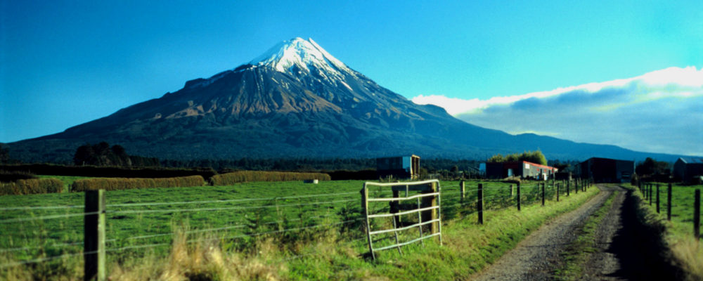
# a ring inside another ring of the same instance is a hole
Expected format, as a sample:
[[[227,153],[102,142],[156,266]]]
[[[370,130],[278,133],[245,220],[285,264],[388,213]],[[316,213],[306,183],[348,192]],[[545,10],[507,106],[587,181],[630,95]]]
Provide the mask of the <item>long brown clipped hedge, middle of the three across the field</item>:
[[[71,185],[72,192],[85,190],[124,190],[134,188],[181,188],[202,186],[202,176],[181,176],[177,178],[85,178]]]

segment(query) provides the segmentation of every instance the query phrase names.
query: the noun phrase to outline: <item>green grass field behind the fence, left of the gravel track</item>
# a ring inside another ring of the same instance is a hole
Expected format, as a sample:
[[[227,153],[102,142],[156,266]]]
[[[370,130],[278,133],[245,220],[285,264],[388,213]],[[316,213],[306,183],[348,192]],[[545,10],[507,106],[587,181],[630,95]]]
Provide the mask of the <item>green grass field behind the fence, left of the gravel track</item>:
[[[68,182],[75,181],[76,177],[61,179]],[[458,181],[441,183],[441,211],[443,225],[446,226],[444,230],[447,233],[446,237],[451,237],[449,233],[460,233],[465,226],[476,226],[477,182],[467,182],[467,193],[463,202],[460,201],[458,185]],[[360,219],[359,190],[362,186],[363,181],[323,181],[317,185],[302,182],[242,183],[228,186],[110,191],[106,195],[108,264],[124,265],[127,261],[153,259],[149,258],[150,256],[169,256],[173,251],[174,236],[179,236],[174,235],[174,232],[187,237],[186,244],[197,245],[214,241],[219,243],[219,247],[226,252],[248,254],[252,254],[251,249],[259,249],[262,241],[273,237],[278,248],[273,256],[278,259],[266,259],[266,263],[296,258],[285,263],[288,270],[285,270],[284,275],[292,279],[298,277],[305,279],[319,274],[310,272],[311,269],[307,268],[310,266],[308,263],[316,263],[316,259],[297,257],[318,252],[318,250],[311,250],[316,248],[311,248],[310,244],[325,244],[320,243],[320,240],[328,242],[333,240],[330,243],[335,246],[345,244],[347,246],[342,249],[349,249],[350,252],[356,253],[352,255],[353,257],[343,258],[345,267],[365,264],[363,253],[368,251],[368,246],[363,232],[363,221]],[[508,183],[484,182],[487,209],[503,209],[496,211],[496,214],[517,213],[514,200],[517,192],[514,192],[511,197],[508,186]],[[371,192],[375,192],[376,197],[391,195],[389,190],[379,189]],[[564,199],[565,190],[562,189],[561,193]],[[539,207],[539,195],[541,192],[536,188],[536,183],[523,184],[524,208]],[[554,195],[554,188],[548,187],[546,190],[548,200],[553,199]],[[572,198],[576,198],[573,190]],[[551,202],[549,204],[555,205]],[[3,209],[0,214],[0,225],[4,234],[0,237],[0,263],[9,264],[75,254],[75,256],[41,262],[39,266],[30,263],[26,268],[65,272],[63,274],[79,277],[80,270],[75,268],[80,267],[82,263],[80,253],[83,237],[83,204],[84,193],[82,192],[0,197],[0,208]],[[46,209],[46,207],[57,208]],[[375,211],[387,208],[387,206],[379,206]],[[539,210],[541,209],[537,209]],[[558,207],[555,210],[553,213],[537,216],[536,222],[533,223],[534,227],[549,216],[560,212]],[[486,223],[494,221],[491,213],[484,214],[486,214]],[[520,214],[530,216],[531,213],[523,211]],[[498,223],[505,224],[505,222]],[[477,228],[481,229],[484,226],[477,226]],[[510,235],[510,242],[499,242],[499,249],[501,251],[509,249],[512,243],[517,243],[526,234],[526,231],[521,228],[517,231],[518,235]],[[427,248],[421,251],[430,251],[437,246],[433,242],[426,244]],[[418,245],[408,246],[404,252],[414,252],[418,247]],[[493,247],[492,244],[491,247]],[[337,253],[336,250],[334,252]],[[496,258],[494,252],[488,255],[491,259]],[[408,259],[405,256],[407,254],[398,257],[396,251],[384,251],[380,259],[385,261]],[[371,268],[377,268],[373,270],[375,275],[386,274],[383,272],[388,269],[378,269],[378,263],[373,264]],[[299,266],[306,266],[307,269]],[[361,268],[366,267],[368,266],[361,266]],[[10,268],[19,270],[17,268],[21,266]],[[359,274],[356,270],[352,272],[354,275]],[[394,276],[396,273],[388,274]],[[346,279],[342,276],[335,275],[334,279]],[[394,279],[394,277],[391,278]]]

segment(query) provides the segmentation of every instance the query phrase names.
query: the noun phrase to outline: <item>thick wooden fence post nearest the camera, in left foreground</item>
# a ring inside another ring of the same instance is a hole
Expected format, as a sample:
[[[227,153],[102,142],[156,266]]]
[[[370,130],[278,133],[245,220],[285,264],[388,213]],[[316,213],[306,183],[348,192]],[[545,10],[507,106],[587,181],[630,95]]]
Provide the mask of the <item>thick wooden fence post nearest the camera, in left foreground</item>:
[[[105,280],[105,190],[88,190],[85,197],[84,277]]]

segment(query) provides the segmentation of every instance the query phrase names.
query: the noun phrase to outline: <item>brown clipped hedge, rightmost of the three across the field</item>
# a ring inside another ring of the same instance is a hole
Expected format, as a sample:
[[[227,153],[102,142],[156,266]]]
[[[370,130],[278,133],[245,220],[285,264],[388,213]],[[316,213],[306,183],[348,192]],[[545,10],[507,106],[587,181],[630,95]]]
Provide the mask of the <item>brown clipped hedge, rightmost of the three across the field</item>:
[[[211,185],[231,185],[247,181],[330,181],[330,175],[322,173],[295,173],[290,171],[234,171],[210,178]]]

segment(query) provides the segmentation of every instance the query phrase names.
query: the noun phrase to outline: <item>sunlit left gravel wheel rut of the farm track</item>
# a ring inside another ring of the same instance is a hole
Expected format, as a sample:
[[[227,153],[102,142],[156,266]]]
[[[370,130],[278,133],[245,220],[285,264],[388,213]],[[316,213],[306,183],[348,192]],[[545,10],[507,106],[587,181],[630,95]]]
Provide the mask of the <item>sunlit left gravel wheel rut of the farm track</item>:
[[[562,249],[576,238],[576,231],[613,192],[603,188],[579,209],[570,211],[534,231],[496,263],[471,277],[472,280],[553,280],[553,270]]]

